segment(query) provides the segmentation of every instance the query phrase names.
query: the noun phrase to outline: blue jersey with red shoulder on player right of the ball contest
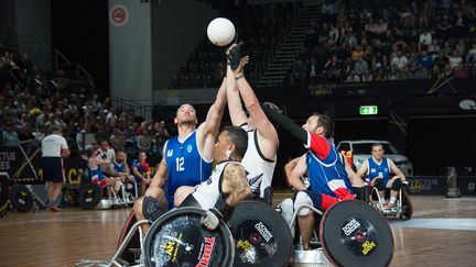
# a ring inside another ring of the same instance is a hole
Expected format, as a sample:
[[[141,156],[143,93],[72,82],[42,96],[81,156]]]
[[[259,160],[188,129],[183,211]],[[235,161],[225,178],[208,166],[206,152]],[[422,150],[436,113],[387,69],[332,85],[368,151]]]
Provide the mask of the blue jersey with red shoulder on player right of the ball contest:
[[[327,152],[324,158],[320,158],[315,149],[313,149],[317,146],[326,147],[326,149],[321,149]],[[338,198],[335,190],[344,187],[353,193],[343,158],[331,141],[313,135],[311,140],[311,151],[306,154],[306,163],[310,177],[310,190]]]

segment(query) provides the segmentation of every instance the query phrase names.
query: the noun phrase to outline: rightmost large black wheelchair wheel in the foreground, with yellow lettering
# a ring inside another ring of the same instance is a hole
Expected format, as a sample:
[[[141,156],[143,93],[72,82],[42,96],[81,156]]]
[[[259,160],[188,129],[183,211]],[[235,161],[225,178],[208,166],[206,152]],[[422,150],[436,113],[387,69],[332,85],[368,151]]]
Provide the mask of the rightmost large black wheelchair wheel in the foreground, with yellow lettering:
[[[335,266],[388,266],[393,256],[387,220],[361,201],[331,207],[321,220],[320,235],[324,253]]]

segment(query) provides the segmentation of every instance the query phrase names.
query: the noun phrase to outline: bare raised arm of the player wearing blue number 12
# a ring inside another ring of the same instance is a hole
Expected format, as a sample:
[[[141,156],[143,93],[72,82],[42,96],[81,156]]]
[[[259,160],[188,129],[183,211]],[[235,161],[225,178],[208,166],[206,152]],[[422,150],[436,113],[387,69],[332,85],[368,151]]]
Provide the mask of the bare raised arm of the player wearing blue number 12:
[[[226,79],[224,78],[218,89],[216,100],[208,110],[205,122],[203,122],[197,130],[198,149],[206,160],[213,159],[215,137],[218,134],[226,102]]]

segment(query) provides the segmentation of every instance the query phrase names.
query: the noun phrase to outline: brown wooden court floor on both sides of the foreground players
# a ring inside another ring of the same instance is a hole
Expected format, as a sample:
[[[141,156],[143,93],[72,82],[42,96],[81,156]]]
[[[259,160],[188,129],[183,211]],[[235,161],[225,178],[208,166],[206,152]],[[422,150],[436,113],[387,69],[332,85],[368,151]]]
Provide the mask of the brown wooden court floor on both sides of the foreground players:
[[[275,202],[285,194],[277,193]],[[389,219],[390,266],[476,266],[476,198],[412,196],[412,220]],[[9,212],[0,219],[0,266],[74,266],[109,260],[130,208]]]

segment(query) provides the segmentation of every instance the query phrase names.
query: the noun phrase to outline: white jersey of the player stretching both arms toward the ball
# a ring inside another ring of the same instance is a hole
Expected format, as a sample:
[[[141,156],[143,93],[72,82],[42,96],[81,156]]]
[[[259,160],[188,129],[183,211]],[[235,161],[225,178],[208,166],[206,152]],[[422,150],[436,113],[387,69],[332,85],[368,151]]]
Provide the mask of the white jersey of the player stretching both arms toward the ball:
[[[259,190],[260,198],[264,198],[264,189],[271,187],[277,156],[272,159],[266,158],[258,145],[258,132],[249,131],[248,125],[242,125],[241,129],[248,133],[248,148],[241,165],[248,171],[248,181],[253,194],[258,194]]]

